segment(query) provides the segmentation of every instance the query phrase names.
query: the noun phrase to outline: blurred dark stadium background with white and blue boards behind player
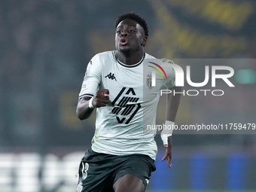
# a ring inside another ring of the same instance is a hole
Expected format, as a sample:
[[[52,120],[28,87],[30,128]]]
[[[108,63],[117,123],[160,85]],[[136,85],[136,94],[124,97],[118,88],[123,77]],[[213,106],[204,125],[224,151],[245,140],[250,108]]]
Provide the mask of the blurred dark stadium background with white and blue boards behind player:
[[[94,131],[93,118],[75,115],[78,93],[91,57],[114,49],[114,23],[123,12],[145,17],[146,51],[157,58],[242,59],[230,64],[236,87],[225,96],[182,96],[178,124],[255,123],[255,6],[254,0],[1,0],[0,190],[75,191]],[[202,67],[193,70],[202,76]],[[256,191],[255,139],[176,135],[167,169],[157,136],[148,190]]]

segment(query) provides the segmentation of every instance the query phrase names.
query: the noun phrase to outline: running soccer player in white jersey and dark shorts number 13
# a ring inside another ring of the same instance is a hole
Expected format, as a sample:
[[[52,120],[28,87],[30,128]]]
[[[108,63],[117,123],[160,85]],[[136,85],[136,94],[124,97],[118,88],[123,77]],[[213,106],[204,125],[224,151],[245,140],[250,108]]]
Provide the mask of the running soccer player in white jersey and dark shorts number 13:
[[[155,123],[160,87],[178,88],[173,70],[166,72],[168,80],[157,77],[155,87],[146,82],[151,75],[143,75],[144,61],[155,59],[145,53],[147,40],[145,20],[135,13],[121,14],[116,21],[116,50],[98,53],[88,63],[77,115],[87,119],[96,108],[96,130],[79,166],[77,192],[145,191],[156,169],[154,134],[146,134],[143,127]],[[174,124],[178,103],[179,96],[169,94],[166,124]],[[171,167],[171,134],[162,134],[162,139],[163,160]]]

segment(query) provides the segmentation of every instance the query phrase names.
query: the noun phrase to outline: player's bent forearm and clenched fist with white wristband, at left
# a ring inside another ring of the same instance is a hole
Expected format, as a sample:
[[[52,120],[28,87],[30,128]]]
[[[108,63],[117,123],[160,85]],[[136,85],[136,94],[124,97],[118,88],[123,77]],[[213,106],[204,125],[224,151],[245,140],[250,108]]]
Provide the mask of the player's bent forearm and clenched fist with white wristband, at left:
[[[109,101],[108,90],[97,90],[95,96],[84,96],[78,99],[77,115],[80,120],[87,119],[93,112],[94,108],[105,107]],[[91,100],[91,101],[90,101]],[[91,102],[91,104],[90,104]]]

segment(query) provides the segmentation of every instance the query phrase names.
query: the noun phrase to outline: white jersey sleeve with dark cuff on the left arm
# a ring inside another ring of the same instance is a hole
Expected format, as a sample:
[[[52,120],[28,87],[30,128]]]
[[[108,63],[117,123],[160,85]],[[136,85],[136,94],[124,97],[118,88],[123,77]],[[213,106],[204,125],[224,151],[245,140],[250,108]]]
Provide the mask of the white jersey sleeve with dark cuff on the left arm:
[[[84,96],[94,96],[101,82],[101,71],[102,68],[99,56],[93,56],[93,59],[91,59],[87,65],[79,98]]]

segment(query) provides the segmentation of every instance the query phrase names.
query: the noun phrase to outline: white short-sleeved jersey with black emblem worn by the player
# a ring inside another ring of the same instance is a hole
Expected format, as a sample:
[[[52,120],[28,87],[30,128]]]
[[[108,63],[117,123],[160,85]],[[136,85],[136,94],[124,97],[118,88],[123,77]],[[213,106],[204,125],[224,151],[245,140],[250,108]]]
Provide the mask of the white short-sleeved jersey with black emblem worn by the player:
[[[156,86],[152,87],[152,68],[143,66],[148,65],[145,59],[155,59],[153,56],[145,53],[139,63],[125,65],[116,53],[113,50],[93,56],[79,93],[79,98],[92,97],[98,89],[109,90],[108,104],[96,109],[92,149],[103,154],[146,154],[155,160],[154,134],[143,129],[155,124],[160,88],[174,86],[175,72],[166,70],[168,80],[157,73]]]

